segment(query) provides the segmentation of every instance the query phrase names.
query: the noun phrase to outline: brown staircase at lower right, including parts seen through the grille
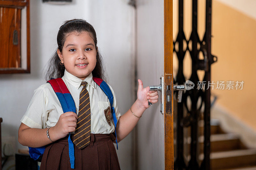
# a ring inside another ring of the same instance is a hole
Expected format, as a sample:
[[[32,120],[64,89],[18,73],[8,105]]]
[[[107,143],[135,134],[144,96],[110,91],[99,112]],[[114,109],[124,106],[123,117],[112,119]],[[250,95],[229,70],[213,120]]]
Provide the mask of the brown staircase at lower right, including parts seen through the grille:
[[[176,150],[176,123],[174,127],[174,155]],[[204,121],[198,121],[198,163],[204,159]],[[184,128],[184,161],[186,166],[190,160],[191,128]],[[187,136],[187,137],[185,137]],[[220,127],[217,119],[211,119],[211,170],[256,170],[256,145],[248,148],[236,133],[227,133]]]

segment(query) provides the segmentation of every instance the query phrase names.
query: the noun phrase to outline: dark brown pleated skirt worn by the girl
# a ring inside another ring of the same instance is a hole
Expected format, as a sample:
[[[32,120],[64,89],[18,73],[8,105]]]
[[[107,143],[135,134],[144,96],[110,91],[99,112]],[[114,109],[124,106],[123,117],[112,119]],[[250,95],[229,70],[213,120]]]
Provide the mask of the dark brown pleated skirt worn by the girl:
[[[75,149],[75,169],[120,169],[116,148],[113,144],[115,135],[91,134],[90,144]],[[68,135],[46,146],[40,170],[69,169]]]

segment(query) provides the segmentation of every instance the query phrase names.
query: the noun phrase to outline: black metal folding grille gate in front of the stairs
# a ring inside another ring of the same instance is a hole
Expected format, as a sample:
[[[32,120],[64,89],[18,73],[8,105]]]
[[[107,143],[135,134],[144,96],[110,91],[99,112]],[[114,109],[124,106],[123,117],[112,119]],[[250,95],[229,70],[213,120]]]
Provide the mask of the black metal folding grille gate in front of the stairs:
[[[211,82],[211,64],[217,61],[217,57],[211,54],[211,0],[206,0],[205,9],[205,33],[203,39],[200,40],[197,31],[197,0],[192,0],[192,31],[187,40],[183,30],[183,0],[179,0],[179,31],[176,41],[173,41],[173,53],[177,54],[179,68],[176,77],[174,77],[174,84],[185,84],[183,60],[187,51],[192,60],[192,73],[188,80],[195,83],[194,89],[184,91],[182,102],[177,103],[177,115],[174,115],[174,122],[176,122],[174,169],[179,170],[210,169],[211,88],[207,89],[207,86],[208,82]],[[177,43],[178,45],[176,45]],[[190,48],[189,43],[192,43],[192,47]],[[175,45],[178,46],[177,49],[175,49]],[[199,53],[202,53],[204,58],[199,58]],[[197,89],[196,87],[199,81],[197,75],[198,70],[204,70],[203,81],[206,83],[204,89]],[[176,91],[174,96],[177,97]],[[188,103],[188,101],[190,102]],[[203,105],[204,107],[202,107]],[[200,145],[198,141],[200,135],[200,128],[198,127],[199,121],[200,123],[203,122],[203,145]],[[190,144],[184,143],[189,137],[191,139]],[[200,148],[201,146],[203,146],[203,148]],[[188,148],[189,151],[186,152],[184,147]]]

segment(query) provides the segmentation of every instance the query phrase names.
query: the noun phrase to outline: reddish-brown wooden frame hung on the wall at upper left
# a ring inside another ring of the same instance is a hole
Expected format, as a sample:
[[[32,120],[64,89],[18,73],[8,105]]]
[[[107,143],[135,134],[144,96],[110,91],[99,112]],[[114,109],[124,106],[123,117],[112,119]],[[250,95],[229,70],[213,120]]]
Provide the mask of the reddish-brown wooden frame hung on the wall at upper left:
[[[0,73],[30,73],[29,0],[0,0],[0,21]]]

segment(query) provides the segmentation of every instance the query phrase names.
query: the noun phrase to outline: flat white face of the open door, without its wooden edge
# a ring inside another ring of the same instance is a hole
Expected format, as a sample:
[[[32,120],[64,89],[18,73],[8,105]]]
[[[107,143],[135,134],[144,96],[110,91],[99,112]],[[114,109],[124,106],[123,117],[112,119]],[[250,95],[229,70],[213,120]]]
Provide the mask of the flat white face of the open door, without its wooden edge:
[[[164,1],[137,1],[137,72],[144,87],[164,75]],[[138,169],[164,169],[164,115],[152,104],[138,123]]]

